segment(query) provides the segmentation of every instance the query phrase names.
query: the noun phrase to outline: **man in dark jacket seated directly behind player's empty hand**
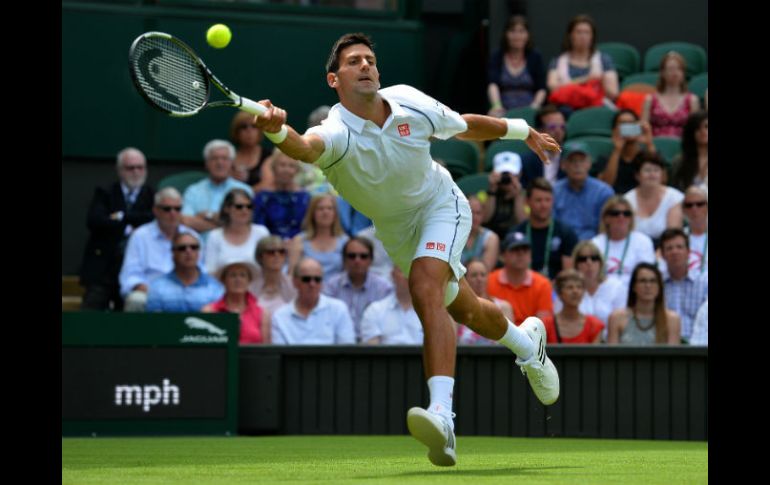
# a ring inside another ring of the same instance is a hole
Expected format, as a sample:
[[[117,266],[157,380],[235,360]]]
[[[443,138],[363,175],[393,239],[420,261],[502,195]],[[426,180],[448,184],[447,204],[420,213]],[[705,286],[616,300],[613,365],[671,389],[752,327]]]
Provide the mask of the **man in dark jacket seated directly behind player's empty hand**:
[[[564,145],[567,137],[567,122],[564,114],[553,104],[547,104],[540,108],[535,115],[535,129],[541,133],[548,133],[559,145]],[[557,180],[567,176],[562,170],[561,161],[564,159],[562,152],[545,152],[548,165],[544,164],[540,157],[533,151],[527,151],[521,155],[521,174],[519,180],[523,187],[538,177],[545,177],[551,185],[555,185]]]

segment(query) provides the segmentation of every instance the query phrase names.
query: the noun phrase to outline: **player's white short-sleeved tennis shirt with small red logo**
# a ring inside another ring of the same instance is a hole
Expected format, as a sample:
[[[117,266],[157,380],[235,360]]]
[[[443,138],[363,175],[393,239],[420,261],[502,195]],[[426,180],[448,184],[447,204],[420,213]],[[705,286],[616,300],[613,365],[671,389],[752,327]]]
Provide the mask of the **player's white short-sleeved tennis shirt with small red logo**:
[[[315,162],[342,197],[373,221],[395,221],[428,203],[449,172],[433,161],[430,137],[468,129],[459,113],[404,84],[379,91],[391,114],[380,128],[340,103],[320,126],[325,150]]]

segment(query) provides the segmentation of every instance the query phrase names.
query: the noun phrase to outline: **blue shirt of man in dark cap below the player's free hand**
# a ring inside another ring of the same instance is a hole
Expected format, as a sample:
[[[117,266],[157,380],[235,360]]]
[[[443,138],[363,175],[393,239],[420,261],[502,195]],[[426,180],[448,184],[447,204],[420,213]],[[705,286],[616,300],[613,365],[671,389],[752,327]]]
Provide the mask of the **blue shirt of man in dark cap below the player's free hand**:
[[[553,187],[553,216],[572,227],[578,241],[596,236],[599,232],[602,206],[615,195],[607,183],[588,177],[580,191],[569,185],[569,180],[558,180]]]

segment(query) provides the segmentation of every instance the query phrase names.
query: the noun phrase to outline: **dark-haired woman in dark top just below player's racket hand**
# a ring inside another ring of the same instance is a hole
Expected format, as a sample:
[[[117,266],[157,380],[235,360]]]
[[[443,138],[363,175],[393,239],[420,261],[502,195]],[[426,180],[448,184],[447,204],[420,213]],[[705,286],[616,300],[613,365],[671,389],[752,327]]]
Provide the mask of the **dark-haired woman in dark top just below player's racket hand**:
[[[230,122],[230,141],[235,145],[232,176],[249,185],[254,193],[273,189],[270,155],[273,145],[263,146],[264,134],[254,123],[254,115],[238,111]]]

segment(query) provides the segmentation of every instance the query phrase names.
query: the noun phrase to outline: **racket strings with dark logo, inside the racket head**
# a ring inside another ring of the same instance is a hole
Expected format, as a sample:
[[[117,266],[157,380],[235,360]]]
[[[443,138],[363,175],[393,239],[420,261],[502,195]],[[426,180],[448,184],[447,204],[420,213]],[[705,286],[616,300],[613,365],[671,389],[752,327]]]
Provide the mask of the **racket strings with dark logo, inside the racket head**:
[[[190,113],[206,103],[208,80],[196,59],[176,43],[145,37],[137,45],[133,64],[141,88],[160,107]]]

